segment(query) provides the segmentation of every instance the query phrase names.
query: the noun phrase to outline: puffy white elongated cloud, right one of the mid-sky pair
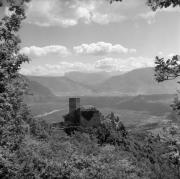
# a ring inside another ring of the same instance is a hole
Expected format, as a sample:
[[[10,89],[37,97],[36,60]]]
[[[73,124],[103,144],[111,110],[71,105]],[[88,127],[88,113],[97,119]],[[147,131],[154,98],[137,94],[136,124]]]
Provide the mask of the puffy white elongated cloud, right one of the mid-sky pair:
[[[112,45],[106,42],[97,42],[91,44],[81,44],[73,48],[76,54],[89,54],[89,55],[106,55],[110,53],[135,53],[136,49],[128,49],[120,44]]]

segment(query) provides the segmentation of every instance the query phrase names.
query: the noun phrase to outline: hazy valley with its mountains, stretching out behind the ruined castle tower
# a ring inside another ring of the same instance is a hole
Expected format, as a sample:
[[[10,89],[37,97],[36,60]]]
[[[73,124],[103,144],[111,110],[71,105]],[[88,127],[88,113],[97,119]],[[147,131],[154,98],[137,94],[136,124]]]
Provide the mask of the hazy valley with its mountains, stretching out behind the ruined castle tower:
[[[63,121],[70,96],[80,96],[81,105],[93,105],[103,115],[114,112],[127,127],[157,128],[177,117],[170,107],[176,82],[158,84],[152,68],[115,76],[73,72],[62,77],[28,79],[32,95],[25,101],[35,117],[49,123]]]

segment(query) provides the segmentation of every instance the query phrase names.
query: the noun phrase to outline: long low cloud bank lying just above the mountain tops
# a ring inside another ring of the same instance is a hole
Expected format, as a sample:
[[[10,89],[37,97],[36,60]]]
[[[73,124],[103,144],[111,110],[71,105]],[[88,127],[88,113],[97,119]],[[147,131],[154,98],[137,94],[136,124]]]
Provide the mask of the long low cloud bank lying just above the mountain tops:
[[[62,61],[57,64],[45,64],[34,66],[31,68],[21,69],[24,75],[50,75],[62,76],[66,72],[81,71],[81,72],[116,72],[129,71],[135,68],[152,67],[154,66],[154,59],[145,57],[129,57],[127,59],[120,58],[102,58],[94,63],[83,62],[66,62]]]

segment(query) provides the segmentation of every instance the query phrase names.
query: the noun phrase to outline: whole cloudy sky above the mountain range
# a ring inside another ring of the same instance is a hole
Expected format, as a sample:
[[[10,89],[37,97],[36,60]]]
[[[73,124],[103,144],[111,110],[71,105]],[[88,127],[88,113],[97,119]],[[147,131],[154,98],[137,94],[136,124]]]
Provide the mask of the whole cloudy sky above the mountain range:
[[[7,14],[7,9],[5,10]],[[32,0],[20,30],[21,73],[126,72],[180,54],[180,8],[153,12],[146,0]]]

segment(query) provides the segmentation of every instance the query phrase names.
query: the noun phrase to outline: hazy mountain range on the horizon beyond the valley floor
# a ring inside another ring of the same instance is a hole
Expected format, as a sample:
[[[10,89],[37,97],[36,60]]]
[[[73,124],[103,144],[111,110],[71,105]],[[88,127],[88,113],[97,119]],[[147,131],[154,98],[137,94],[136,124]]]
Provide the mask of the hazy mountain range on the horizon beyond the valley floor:
[[[157,83],[153,68],[135,69],[116,76],[105,72],[71,72],[59,77],[28,76],[27,78],[36,92],[41,91],[40,93],[44,95],[52,93],[56,96],[174,94],[178,89],[177,80]]]

